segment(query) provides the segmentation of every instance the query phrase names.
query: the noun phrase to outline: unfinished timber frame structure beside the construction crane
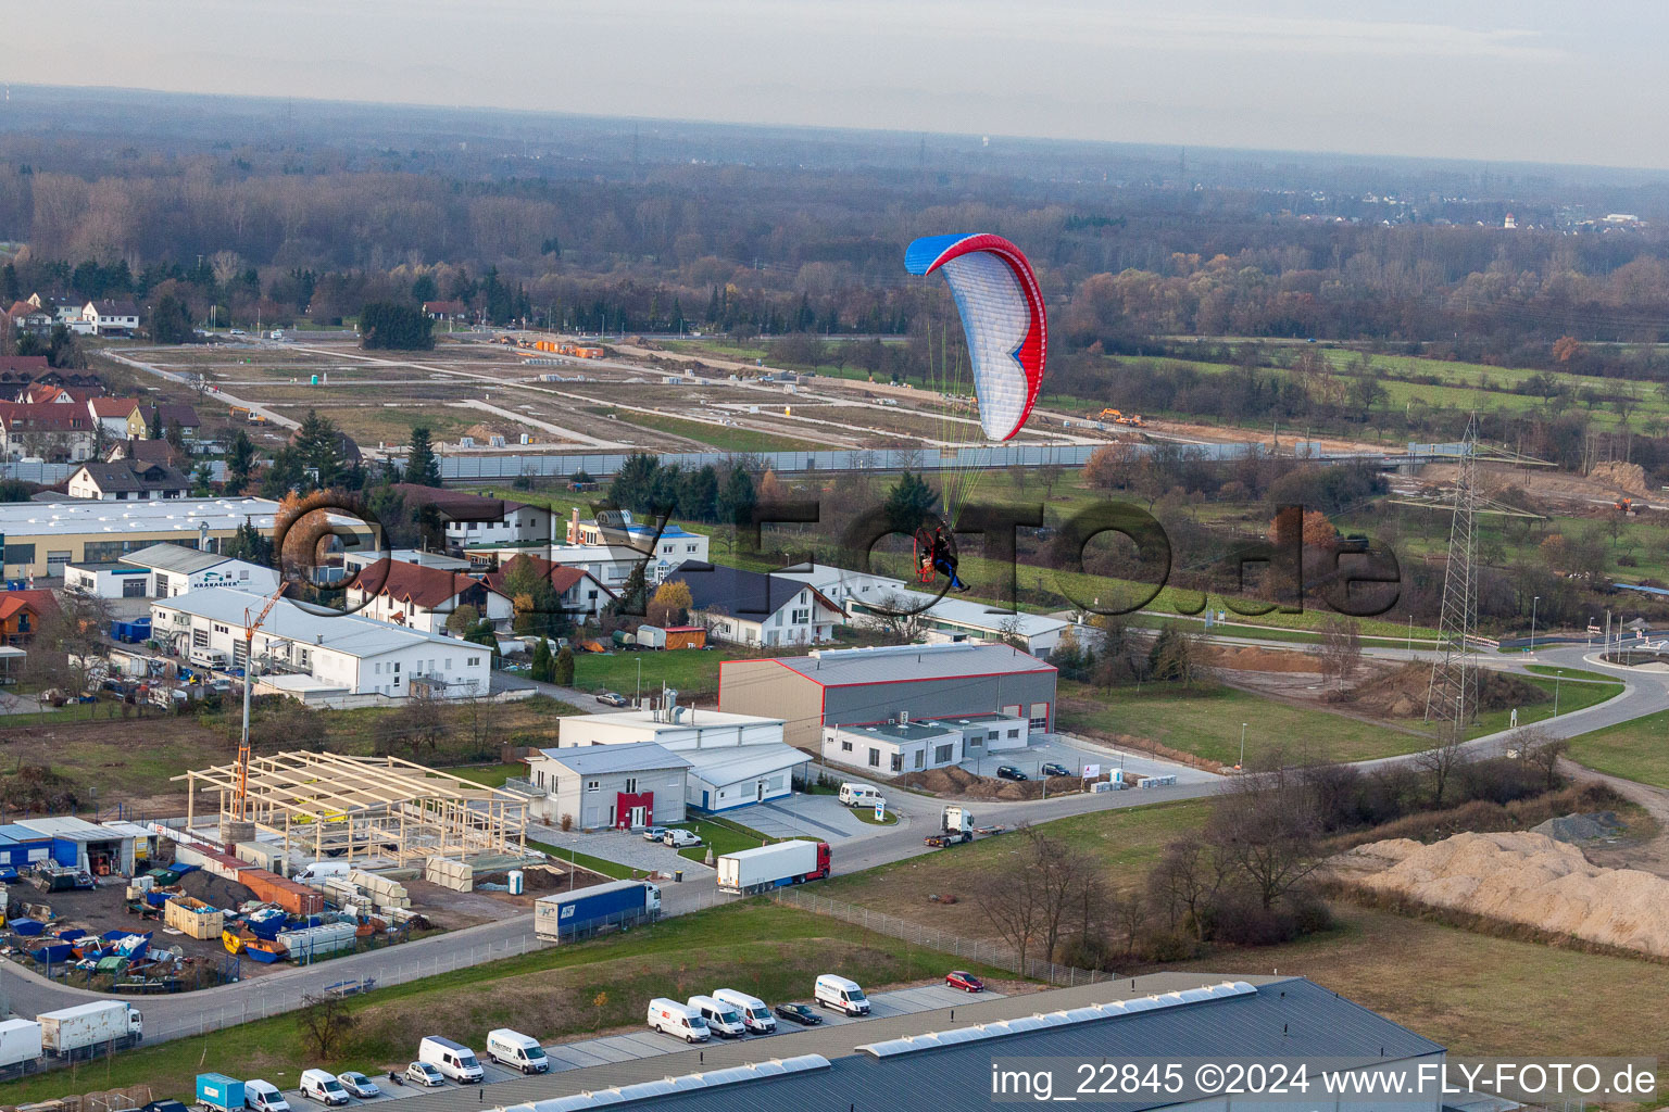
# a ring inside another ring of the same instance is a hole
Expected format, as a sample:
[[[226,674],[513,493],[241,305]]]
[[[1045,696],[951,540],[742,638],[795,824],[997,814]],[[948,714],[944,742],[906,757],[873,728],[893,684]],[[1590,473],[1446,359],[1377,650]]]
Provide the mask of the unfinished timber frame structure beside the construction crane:
[[[249,762],[245,810],[237,814],[239,769],[187,772],[185,827],[197,822],[197,789],[219,794],[225,822],[252,822],[284,839],[284,852],[315,860],[429,857],[526,850],[527,797],[501,792],[399,757],[285,752]]]

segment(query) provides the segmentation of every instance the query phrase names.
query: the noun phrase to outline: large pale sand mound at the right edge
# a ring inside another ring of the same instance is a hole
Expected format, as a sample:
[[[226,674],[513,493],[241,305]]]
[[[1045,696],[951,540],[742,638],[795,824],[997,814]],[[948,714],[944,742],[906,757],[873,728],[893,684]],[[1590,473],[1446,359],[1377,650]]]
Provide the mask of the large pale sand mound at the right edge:
[[[1601,869],[1545,834],[1370,842],[1337,865],[1340,880],[1372,892],[1669,957],[1669,880]]]

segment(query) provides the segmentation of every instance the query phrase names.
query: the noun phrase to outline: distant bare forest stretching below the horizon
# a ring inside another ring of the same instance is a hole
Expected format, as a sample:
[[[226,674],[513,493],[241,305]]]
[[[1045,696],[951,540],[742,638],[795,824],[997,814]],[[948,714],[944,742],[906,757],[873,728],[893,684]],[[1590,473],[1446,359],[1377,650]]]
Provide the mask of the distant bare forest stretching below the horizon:
[[[1359,193],[1370,168],[1252,160],[1237,177],[1222,152],[1202,172],[1210,185],[1152,152],[981,167],[923,138],[910,165],[908,143],[870,158],[846,133],[826,138],[850,152],[845,165],[811,165],[799,152],[818,150],[814,132],[773,147],[716,127],[701,133],[709,157],[674,158],[668,138],[641,150],[636,132],[604,142],[577,123],[567,150],[561,127],[529,117],[539,143],[517,153],[516,117],[474,148],[439,125],[414,138],[397,113],[389,135],[330,117],[309,138],[290,122],[257,140],[232,108],[155,117],[180,112],[175,100],[142,100],[144,125],[125,137],[98,132],[118,128],[110,103],[82,113],[80,135],[52,127],[73,105],[7,107],[0,238],[22,247],[0,295],[174,293],[222,322],[332,323],[371,302],[446,298],[496,323],[587,332],[931,335],[943,292],[903,273],[905,243],[990,230],[1036,263],[1063,355],[1158,355],[1150,337],[1205,333],[1554,365],[1567,335],[1669,340],[1669,222],[1572,232],[1559,197],[1599,205],[1607,193],[1591,183],[1472,178],[1467,198],[1439,192],[1467,185],[1454,172],[1402,167],[1377,172],[1382,192],[1417,200],[1384,207]],[[1504,230],[1515,188],[1534,197]],[[1611,195],[1664,200],[1632,178]],[[1639,373],[1604,357],[1584,370]]]

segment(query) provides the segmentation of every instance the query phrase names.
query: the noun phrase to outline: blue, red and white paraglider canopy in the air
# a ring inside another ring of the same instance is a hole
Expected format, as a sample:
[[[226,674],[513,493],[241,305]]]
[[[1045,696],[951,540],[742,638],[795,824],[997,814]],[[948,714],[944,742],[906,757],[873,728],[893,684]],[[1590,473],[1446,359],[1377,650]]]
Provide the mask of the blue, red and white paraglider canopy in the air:
[[[926,235],[905,250],[910,273],[945,272],[973,362],[980,427],[1008,440],[1043,382],[1048,322],[1031,263],[1000,235]]]

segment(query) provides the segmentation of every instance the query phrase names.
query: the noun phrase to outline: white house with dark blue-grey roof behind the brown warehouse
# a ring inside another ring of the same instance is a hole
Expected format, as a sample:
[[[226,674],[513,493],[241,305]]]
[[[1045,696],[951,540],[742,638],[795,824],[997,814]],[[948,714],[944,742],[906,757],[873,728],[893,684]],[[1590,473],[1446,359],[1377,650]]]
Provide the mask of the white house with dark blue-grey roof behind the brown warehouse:
[[[666,582],[688,584],[691,622],[738,645],[821,644],[843,617],[816,587],[721,564],[681,564]]]

